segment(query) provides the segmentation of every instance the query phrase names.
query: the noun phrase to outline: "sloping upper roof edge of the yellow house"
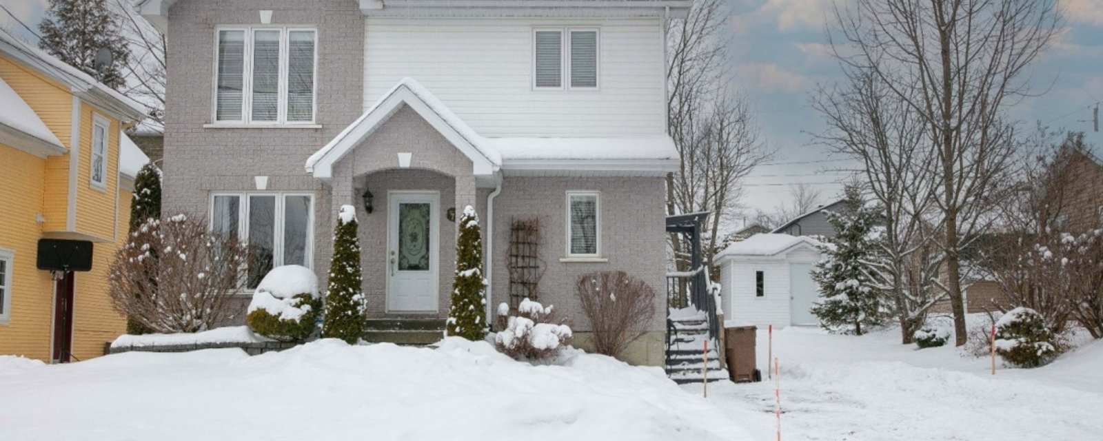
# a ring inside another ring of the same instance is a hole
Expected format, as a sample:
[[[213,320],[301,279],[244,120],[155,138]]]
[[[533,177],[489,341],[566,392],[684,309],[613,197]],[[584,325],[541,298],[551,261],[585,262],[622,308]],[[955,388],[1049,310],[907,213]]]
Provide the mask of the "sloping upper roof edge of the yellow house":
[[[81,69],[69,66],[45,51],[26,44],[0,28],[0,53],[25,63],[40,73],[72,88],[73,95],[105,109],[139,121],[146,118],[146,106],[96,80]]]

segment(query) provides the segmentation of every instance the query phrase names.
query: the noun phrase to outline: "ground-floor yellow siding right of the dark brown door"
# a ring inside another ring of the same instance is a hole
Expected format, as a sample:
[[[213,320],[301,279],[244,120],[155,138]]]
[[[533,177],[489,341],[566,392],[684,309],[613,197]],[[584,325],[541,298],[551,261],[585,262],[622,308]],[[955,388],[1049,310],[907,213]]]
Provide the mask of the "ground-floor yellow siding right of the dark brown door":
[[[126,333],[126,318],[115,312],[111,298],[107,293],[108,268],[116,250],[122,246],[127,235],[127,216],[130,213],[130,192],[118,190],[120,220],[118,241],[93,245],[92,271],[76,273],[76,290],[73,306],[73,355],[88,359],[104,355],[104,343]]]

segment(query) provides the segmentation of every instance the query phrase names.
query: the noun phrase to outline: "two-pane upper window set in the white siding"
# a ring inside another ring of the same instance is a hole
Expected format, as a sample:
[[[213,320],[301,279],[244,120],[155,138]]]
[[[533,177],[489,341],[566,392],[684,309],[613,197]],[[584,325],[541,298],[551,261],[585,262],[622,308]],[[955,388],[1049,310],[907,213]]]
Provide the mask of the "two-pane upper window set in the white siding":
[[[536,29],[533,31],[533,87],[596,89],[598,87],[596,29]],[[564,85],[564,77],[566,87]]]

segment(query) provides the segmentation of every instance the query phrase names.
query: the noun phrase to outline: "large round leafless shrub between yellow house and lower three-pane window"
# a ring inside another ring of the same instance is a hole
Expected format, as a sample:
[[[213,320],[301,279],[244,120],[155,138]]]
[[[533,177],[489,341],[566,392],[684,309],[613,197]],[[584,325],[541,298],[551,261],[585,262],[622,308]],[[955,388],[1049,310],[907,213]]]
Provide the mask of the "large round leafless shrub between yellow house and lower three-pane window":
[[[247,250],[202,218],[150,219],[130,234],[109,269],[111,303],[154,332],[212,329],[243,288]]]

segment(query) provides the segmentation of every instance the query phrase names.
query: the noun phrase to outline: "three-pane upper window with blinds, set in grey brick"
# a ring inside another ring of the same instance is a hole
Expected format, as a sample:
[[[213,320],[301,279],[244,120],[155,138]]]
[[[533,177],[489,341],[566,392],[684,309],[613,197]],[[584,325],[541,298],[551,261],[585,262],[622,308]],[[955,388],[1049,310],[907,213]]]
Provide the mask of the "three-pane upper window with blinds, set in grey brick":
[[[214,120],[313,122],[317,36],[312,29],[219,29]]]

